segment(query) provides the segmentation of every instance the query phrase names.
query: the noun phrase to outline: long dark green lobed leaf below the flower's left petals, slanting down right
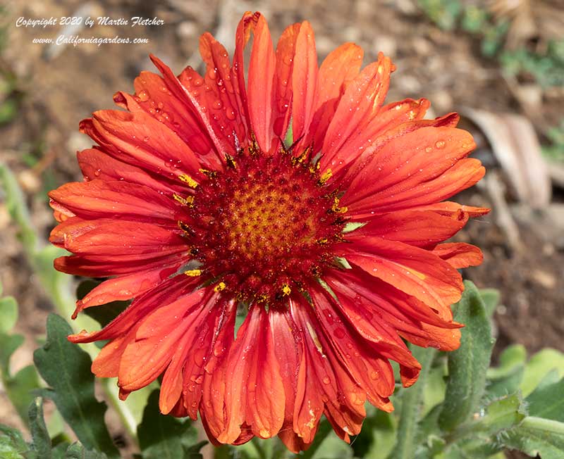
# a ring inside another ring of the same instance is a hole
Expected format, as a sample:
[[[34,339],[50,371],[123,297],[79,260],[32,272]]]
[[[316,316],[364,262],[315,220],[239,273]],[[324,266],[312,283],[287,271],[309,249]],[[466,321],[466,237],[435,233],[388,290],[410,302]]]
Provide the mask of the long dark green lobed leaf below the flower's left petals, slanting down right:
[[[106,404],[94,396],[94,375],[90,372],[92,360],[85,351],[67,340],[71,333],[71,327],[62,317],[49,315],[47,342],[33,355],[39,374],[52,388],[44,393],[55,402],[86,448],[117,458],[118,450],[104,423]]]

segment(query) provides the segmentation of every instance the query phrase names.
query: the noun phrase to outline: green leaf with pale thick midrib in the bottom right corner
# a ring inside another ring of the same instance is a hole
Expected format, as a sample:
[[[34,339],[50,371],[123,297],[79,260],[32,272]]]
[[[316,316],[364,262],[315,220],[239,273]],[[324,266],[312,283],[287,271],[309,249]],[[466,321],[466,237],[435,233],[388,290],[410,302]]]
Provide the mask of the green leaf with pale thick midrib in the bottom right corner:
[[[564,451],[564,423],[527,416],[521,424],[502,437],[503,444],[532,458],[562,459]]]

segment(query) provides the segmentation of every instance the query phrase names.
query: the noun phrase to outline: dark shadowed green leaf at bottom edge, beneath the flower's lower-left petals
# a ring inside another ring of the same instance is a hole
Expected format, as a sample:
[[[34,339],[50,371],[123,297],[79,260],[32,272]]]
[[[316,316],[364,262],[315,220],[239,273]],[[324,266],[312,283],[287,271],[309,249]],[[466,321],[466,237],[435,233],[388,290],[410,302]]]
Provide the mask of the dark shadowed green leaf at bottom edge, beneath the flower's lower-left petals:
[[[190,422],[161,415],[159,391],[152,391],[149,395],[143,420],[137,427],[137,436],[144,459],[184,458],[183,440],[190,444],[197,440],[196,429]]]

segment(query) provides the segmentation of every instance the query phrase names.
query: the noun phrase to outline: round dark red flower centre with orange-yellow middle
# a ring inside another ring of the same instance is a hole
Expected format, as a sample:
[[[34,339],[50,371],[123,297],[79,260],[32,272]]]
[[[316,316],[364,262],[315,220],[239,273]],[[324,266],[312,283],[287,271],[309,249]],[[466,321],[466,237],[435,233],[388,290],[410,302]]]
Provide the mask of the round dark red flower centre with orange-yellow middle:
[[[240,299],[272,303],[320,275],[343,218],[317,170],[289,154],[241,155],[197,188],[193,253]]]

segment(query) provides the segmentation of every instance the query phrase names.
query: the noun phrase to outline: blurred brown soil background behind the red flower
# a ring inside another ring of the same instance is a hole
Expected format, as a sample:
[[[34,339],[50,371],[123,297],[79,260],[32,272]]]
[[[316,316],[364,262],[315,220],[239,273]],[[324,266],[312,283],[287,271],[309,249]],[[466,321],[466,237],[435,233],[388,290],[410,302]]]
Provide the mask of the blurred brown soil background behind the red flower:
[[[431,116],[462,115],[486,178],[456,199],[489,206],[456,240],[480,246],[484,263],[464,272],[501,291],[496,344],[564,351],[564,2],[562,0],[29,0],[0,4],[0,165],[23,190],[39,239],[54,226],[46,193],[82,180],[75,152],[91,146],[78,122],[133,92],[149,53],[180,73],[198,68],[198,37],[210,31],[233,48],[247,10],[266,15],[276,42],[286,25],[309,20],[323,59],[356,42],[364,62],[384,51],[396,63],[388,101],[426,97]],[[61,17],[133,16],[163,25],[59,25]],[[49,27],[16,27],[18,18],[56,18]],[[61,34],[144,38],[144,44],[48,44]],[[36,42],[34,42],[34,39]],[[24,238],[25,239],[25,238]],[[39,244],[41,241],[39,241]],[[50,260],[47,260],[50,263]],[[53,309],[49,280],[37,272],[0,189],[0,282],[16,297],[16,330],[25,335],[13,366],[32,361],[36,337]],[[0,390],[0,420],[20,420]]]

